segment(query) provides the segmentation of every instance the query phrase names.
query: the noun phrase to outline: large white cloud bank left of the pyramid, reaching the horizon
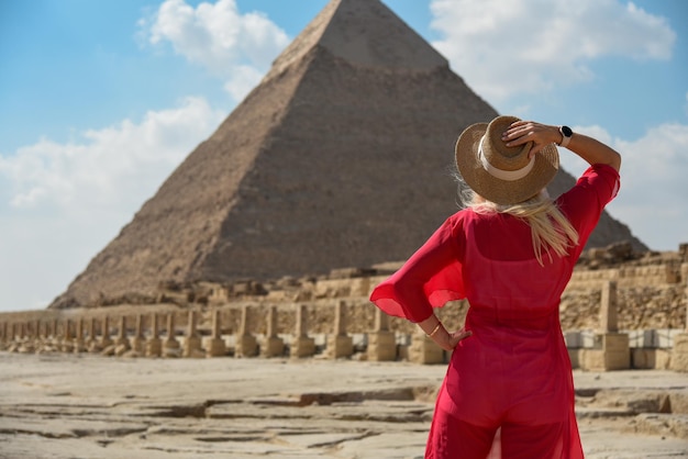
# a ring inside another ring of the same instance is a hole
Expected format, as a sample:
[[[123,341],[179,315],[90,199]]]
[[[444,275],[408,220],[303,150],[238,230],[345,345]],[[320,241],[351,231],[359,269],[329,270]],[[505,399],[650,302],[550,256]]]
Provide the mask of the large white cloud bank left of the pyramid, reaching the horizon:
[[[0,310],[44,307],[64,291],[224,116],[188,98],[140,123],[0,156]]]

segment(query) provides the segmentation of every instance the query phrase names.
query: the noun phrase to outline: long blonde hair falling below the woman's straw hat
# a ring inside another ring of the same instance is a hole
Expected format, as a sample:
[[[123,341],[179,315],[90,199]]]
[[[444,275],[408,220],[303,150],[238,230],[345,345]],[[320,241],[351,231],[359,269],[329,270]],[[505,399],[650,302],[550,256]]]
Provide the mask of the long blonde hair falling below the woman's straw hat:
[[[523,220],[531,227],[531,239],[535,258],[544,266],[542,254],[547,254],[552,262],[552,251],[564,257],[572,246],[578,245],[578,232],[550,199],[546,190],[517,204],[501,205],[487,201],[465,187],[462,192],[464,206],[479,214],[506,213]]]

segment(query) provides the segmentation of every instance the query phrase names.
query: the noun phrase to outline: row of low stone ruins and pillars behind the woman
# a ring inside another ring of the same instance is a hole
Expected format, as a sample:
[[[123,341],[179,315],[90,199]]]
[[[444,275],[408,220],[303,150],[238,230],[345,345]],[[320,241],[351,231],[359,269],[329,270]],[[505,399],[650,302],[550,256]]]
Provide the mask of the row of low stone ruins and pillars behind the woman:
[[[400,264],[273,283],[164,284],[147,304],[0,315],[0,347],[129,357],[352,358],[448,361],[420,329],[368,302]],[[587,250],[564,292],[574,368],[688,371],[688,244],[637,254]],[[465,301],[437,310],[459,327]],[[145,313],[143,311],[146,311]]]

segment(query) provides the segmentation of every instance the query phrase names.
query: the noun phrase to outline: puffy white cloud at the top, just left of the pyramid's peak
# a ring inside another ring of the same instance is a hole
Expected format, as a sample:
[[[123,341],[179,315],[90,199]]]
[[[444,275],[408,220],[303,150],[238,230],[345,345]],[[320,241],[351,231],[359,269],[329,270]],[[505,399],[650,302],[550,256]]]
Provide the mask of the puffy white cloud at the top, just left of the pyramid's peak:
[[[241,14],[234,0],[200,3],[166,0],[152,23],[141,26],[152,44],[169,42],[175,52],[226,80],[225,89],[243,98],[289,43],[287,34],[259,12]]]

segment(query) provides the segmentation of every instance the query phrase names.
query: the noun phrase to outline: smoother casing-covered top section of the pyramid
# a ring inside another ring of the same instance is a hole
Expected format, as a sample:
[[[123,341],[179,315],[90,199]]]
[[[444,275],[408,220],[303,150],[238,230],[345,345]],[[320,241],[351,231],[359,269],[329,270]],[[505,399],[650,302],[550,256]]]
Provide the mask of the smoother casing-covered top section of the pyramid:
[[[314,47],[364,67],[430,70],[448,61],[379,0],[331,0],[275,59],[267,78]]]

